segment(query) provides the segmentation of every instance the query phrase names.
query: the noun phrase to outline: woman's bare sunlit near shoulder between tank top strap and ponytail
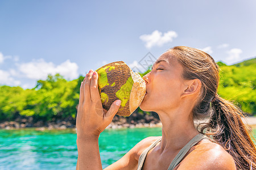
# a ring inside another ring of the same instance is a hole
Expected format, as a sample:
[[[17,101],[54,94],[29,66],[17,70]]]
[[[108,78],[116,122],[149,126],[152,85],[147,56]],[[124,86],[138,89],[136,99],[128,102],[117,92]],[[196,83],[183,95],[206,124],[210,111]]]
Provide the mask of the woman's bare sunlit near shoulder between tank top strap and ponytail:
[[[177,169],[236,169],[236,164],[223,147],[203,139],[191,148]]]

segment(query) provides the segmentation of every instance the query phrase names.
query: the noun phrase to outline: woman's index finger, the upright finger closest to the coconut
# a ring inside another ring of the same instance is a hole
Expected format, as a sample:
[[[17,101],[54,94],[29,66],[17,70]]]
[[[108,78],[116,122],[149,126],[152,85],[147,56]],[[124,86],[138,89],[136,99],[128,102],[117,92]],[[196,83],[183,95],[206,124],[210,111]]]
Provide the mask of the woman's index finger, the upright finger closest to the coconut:
[[[90,82],[90,96],[94,103],[101,99],[100,93],[98,92],[98,74],[96,71],[93,72]]]

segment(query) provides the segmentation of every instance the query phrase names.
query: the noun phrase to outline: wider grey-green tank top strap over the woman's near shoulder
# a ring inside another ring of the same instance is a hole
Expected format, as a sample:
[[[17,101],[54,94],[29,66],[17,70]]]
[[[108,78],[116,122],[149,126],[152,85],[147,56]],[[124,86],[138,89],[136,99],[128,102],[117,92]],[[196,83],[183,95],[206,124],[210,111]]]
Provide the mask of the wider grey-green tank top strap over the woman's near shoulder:
[[[193,137],[193,139],[191,139],[191,141],[189,141],[187,143],[187,145],[185,145],[179,151],[179,153],[175,156],[175,158],[174,158],[174,160],[172,160],[172,163],[170,164],[168,170],[174,169],[177,166],[177,164],[179,164],[180,161],[184,158],[184,156],[187,154],[187,152],[191,149],[191,147],[195,146],[196,143],[198,143],[199,141],[201,141],[204,138],[207,138],[207,137],[201,133],[197,134],[195,137]]]

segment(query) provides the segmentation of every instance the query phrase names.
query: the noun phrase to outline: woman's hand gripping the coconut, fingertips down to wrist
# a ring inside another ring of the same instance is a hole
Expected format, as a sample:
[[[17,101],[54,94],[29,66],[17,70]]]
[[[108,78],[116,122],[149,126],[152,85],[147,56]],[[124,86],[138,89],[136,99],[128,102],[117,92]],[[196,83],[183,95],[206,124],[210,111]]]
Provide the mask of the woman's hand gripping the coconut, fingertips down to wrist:
[[[120,104],[121,100],[115,100],[109,111],[102,108],[98,92],[98,74],[90,70],[80,87],[76,117],[77,138],[98,137],[113,120]]]

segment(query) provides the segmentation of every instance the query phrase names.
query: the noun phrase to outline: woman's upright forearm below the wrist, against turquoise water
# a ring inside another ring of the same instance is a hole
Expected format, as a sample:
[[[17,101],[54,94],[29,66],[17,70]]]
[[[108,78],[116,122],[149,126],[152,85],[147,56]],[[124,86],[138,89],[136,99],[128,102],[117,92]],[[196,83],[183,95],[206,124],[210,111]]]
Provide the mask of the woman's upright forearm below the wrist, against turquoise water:
[[[102,169],[98,137],[77,138],[77,169]]]

